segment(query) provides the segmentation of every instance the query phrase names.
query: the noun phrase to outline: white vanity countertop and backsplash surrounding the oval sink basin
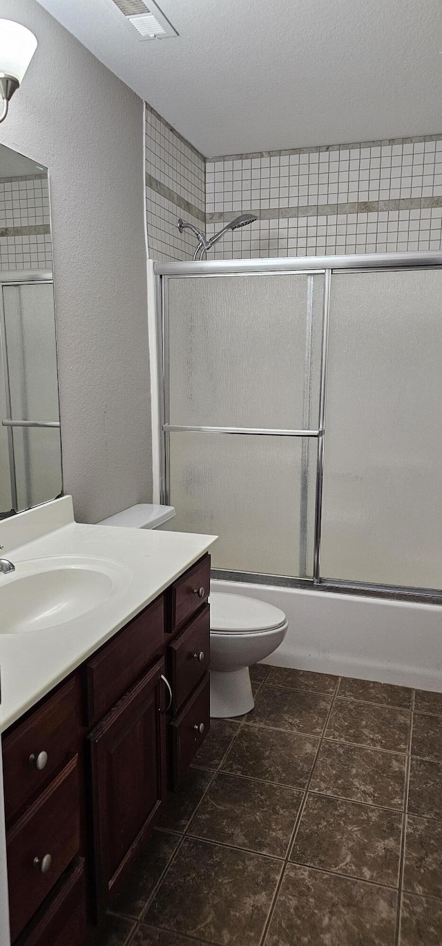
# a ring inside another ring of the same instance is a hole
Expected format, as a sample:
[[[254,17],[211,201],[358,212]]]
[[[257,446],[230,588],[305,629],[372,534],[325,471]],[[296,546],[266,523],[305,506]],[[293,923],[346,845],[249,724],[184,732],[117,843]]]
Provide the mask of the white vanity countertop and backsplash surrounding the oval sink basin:
[[[67,499],[55,500],[65,503],[60,507],[64,511]],[[214,535],[81,525],[70,521],[14,547],[12,534],[24,536],[23,523],[17,520],[23,515],[31,521],[31,513],[33,510],[6,520],[8,529],[4,531],[8,542],[2,539],[4,523],[0,522],[0,542],[5,545],[1,554],[10,558],[17,573],[20,563],[30,559],[90,555],[122,565],[132,577],[127,583],[129,587],[119,596],[109,598],[73,621],[41,631],[2,634],[1,590],[3,583],[8,582],[8,575],[0,574],[0,731],[19,719],[102,643],[112,638],[201,558],[216,539]],[[35,534],[35,528],[30,534]]]

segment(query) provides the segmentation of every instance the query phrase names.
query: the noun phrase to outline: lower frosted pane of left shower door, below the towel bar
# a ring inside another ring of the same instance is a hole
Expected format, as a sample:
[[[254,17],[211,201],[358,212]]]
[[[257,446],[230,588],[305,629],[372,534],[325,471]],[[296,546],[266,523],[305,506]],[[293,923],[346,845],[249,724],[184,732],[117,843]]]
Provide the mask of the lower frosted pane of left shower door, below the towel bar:
[[[171,433],[174,530],[218,534],[215,569],[311,576],[316,441],[305,455],[310,469],[301,498],[301,438]]]

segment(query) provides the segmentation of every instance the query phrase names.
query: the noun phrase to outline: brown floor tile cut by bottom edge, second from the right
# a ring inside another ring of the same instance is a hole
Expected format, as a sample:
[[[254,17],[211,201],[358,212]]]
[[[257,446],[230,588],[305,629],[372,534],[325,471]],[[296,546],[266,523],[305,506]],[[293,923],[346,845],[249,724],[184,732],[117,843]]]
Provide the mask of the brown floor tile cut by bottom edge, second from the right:
[[[265,946],[394,946],[397,893],[289,864]]]

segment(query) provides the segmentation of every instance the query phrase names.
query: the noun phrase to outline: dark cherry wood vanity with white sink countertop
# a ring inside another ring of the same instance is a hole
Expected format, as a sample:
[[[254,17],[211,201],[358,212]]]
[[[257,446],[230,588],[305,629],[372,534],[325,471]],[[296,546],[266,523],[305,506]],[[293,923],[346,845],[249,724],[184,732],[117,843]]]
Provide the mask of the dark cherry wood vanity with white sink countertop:
[[[8,551],[16,572],[0,599],[21,581],[25,605],[7,624],[20,627],[29,563],[49,588],[54,562],[60,581],[105,551],[132,575],[83,615],[0,635],[11,942],[83,946],[210,726],[213,537],[81,526],[69,498],[22,514],[27,537],[51,507],[67,523]]]

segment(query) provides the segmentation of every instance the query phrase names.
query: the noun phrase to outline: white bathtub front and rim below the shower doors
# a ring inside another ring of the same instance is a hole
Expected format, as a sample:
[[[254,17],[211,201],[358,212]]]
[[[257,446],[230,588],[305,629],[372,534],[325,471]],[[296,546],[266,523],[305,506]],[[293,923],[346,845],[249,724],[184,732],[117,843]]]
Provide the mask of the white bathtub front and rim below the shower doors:
[[[442,692],[442,606],[212,581],[213,590],[282,608],[286,638],[266,661]]]

